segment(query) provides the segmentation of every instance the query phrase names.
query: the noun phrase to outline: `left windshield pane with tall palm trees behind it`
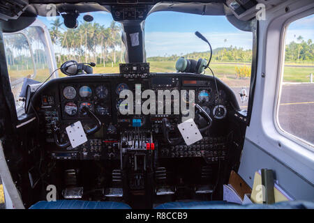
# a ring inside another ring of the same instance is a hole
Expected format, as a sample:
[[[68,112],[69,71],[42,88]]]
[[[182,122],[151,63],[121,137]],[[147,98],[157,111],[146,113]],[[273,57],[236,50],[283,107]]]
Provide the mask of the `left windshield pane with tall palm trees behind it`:
[[[75,60],[78,63],[96,63],[94,73],[119,72],[119,63],[124,63],[125,48],[121,40],[121,24],[114,22],[105,12],[89,13],[93,22],[83,20],[86,13],[77,18],[76,29],[68,29],[60,16],[40,17],[50,31],[57,66]],[[63,77],[63,73],[59,72]]]

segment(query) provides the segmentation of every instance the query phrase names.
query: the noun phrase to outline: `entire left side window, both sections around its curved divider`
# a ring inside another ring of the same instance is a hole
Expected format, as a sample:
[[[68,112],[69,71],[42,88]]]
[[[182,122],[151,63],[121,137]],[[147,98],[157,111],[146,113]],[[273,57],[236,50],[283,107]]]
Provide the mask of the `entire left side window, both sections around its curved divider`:
[[[17,115],[24,112],[21,90],[25,78],[43,82],[52,70],[48,63],[43,30],[29,26],[17,33],[3,33],[6,62]]]

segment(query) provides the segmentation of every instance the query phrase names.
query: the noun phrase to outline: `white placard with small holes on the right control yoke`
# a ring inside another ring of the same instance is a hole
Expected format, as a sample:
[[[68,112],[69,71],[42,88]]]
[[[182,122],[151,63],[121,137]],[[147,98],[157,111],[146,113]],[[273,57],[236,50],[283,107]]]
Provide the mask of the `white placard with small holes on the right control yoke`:
[[[193,118],[180,123],[178,128],[187,146],[190,146],[203,138]]]

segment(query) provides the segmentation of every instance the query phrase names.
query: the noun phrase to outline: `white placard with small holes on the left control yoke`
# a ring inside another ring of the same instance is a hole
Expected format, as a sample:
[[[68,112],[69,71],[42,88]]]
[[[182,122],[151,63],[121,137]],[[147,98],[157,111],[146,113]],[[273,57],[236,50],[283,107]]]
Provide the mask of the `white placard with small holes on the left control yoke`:
[[[70,143],[73,148],[87,142],[87,137],[80,121],[69,125],[66,128],[66,133],[68,134],[68,139],[70,139]]]

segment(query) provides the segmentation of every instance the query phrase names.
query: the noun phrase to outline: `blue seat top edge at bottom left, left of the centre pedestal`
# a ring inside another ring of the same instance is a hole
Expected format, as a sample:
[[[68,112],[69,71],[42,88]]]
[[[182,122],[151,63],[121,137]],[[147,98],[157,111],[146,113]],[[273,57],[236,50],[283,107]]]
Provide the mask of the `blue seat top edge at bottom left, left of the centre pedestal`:
[[[58,200],[39,201],[29,209],[131,209],[126,203],[114,201]]]

